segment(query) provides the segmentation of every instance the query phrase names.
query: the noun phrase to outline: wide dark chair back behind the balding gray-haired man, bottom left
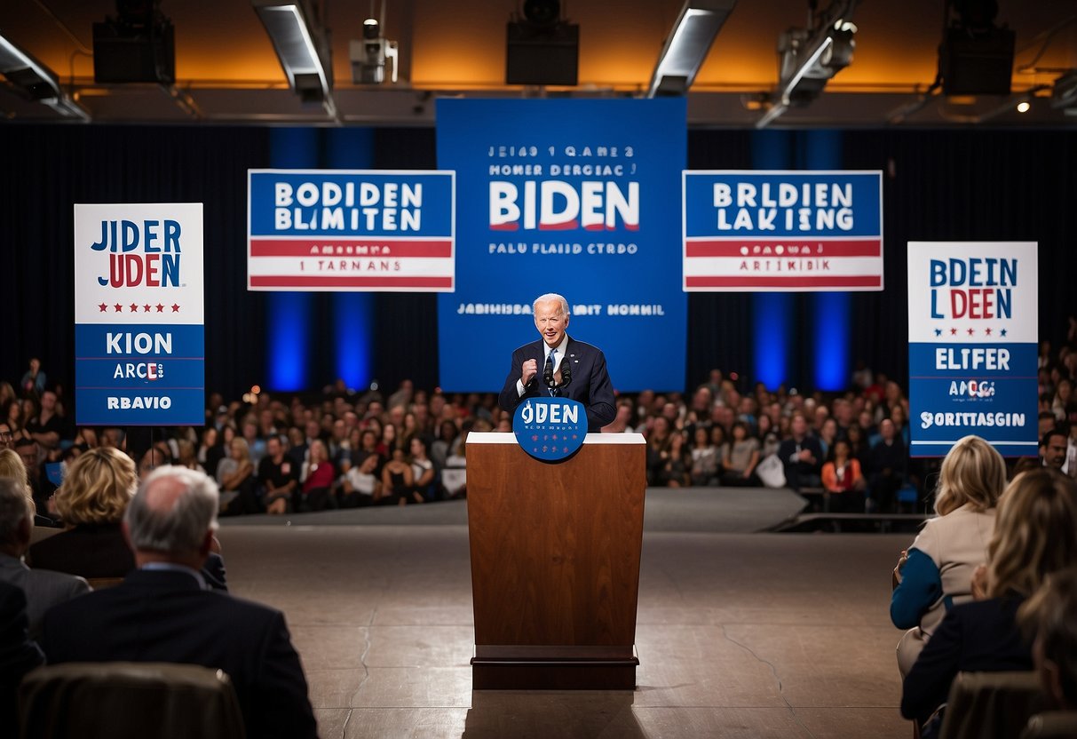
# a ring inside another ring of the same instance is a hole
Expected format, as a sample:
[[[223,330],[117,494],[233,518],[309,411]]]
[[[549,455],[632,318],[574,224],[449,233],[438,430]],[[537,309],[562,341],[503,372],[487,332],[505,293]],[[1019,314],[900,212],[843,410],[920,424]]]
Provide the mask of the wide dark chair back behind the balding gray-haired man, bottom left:
[[[40,667],[18,692],[23,739],[242,739],[243,716],[221,670],[165,663]]]

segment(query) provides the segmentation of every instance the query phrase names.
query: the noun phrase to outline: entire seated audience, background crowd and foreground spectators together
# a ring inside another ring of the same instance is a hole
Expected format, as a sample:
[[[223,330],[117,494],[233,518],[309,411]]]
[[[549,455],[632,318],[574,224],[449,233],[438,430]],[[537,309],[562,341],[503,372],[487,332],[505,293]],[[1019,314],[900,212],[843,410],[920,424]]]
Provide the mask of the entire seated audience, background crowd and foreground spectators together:
[[[903,712],[929,731],[963,669],[1035,666],[1060,707],[1074,702],[1074,660],[1058,650],[1072,646],[1066,625],[1077,623],[1075,580],[1066,574],[1077,566],[1077,351],[1066,345],[1054,353],[1045,341],[1039,363],[1039,458],[1011,470],[976,436],[941,463],[911,459],[904,389],[863,366],[847,391],[831,394],[749,389],[736,374],[714,370],[687,394],[620,395],[603,431],[643,434],[655,487],[789,487],[849,513],[933,503],[937,516],[895,568],[891,608],[895,626],[908,629],[898,649]],[[181,647],[157,650],[126,637],[98,640],[85,657],[84,642],[95,640],[68,636],[138,631],[131,625],[139,619],[159,617],[144,612],[154,588],[176,602],[201,602],[194,592],[209,590],[230,598],[214,535],[219,512],[284,515],[464,498],[468,433],[512,430],[493,393],[428,391],[409,380],[388,395],[338,380],[318,394],[253,389],[242,400],[207,400],[198,428],[86,428],[71,422],[64,386],[48,382],[38,360],[17,385],[0,382],[0,636],[12,657],[5,668],[16,670],[5,671],[0,686],[5,728],[11,686],[45,658],[101,660],[132,650],[190,658]],[[64,531],[31,545],[31,530],[50,526]],[[132,570],[148,574],[131,580]],[[193,577],[195,591],[176,571]],[[83,595],[101,586],[115,586],[116,595]],[[94,608],[62,605],[74,598]],[[282,616],[218,600],[202,608],[216,615],[192,616],[187,626],[233,642],[206,664],[239,671],[249,725],[277,691],[299,716],[289,731],[309,735],[306,685]],[[257,640],[229,639],[232,622],[257,623],[272,635],[294,689],[243,674],[243,645],[254,651]],[[11,642],[19,632],[25,643]]]

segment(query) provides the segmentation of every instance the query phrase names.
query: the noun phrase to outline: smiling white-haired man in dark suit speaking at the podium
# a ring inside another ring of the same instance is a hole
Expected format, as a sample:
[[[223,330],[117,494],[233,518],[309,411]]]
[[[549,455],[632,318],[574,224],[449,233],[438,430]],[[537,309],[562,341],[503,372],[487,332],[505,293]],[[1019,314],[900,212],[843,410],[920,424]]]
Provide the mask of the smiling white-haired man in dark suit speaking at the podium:
[[[514,413],[524,398],[570,398],[587,409],[587,430],[600,431],[617,415],[605,355],[565,333],[569,303],[560,295],[540,296],[532,313],[542,338],[513,352],[499,405]]]

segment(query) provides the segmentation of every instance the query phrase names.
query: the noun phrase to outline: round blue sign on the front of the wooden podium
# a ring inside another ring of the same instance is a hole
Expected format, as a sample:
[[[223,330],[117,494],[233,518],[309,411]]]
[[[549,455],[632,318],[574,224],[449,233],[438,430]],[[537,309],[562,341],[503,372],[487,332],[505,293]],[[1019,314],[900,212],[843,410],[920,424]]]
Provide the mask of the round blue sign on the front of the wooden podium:
[[[516,443],[544,462],[576,454],[587,435],[587,409],[569,398],[529,398],[513,416]]]

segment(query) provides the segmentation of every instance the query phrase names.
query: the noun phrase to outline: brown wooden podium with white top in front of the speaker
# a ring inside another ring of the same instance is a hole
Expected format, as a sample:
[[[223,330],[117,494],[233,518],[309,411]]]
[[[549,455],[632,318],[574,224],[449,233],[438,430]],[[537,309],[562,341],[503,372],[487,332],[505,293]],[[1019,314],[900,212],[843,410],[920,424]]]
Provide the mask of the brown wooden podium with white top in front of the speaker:
[[[561,462],[467,436],[474,689],[632,689],[646,443],[588,434]]]

